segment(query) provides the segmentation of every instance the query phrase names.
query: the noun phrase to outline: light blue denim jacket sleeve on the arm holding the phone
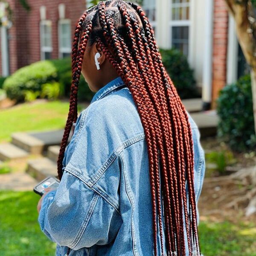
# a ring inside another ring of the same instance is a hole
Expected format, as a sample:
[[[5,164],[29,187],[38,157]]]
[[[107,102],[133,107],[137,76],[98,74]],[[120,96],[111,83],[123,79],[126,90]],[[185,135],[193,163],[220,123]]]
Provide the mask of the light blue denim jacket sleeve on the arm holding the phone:
[[[59,187],[44,197],[38,217],[49,239],[74,250],[110,243],[122,225],[115,204],[118,157],[109,159],[113,136],[108,133],[105,115],[97,109],[88,112],[82,112],[77,120]],[[113,175],[106,178],[106,170]],[[97,189],[100,178],[102,186]]]

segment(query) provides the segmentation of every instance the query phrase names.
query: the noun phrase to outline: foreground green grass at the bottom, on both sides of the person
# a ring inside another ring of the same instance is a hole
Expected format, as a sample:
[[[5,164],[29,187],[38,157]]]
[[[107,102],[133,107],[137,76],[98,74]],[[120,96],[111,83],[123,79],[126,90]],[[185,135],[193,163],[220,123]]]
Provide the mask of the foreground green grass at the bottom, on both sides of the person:
[[[38,224],[38,200],[34,192],[0,191],[1,255],[55,255]],[[199,233],[204,256],[256,256],[255,224],[200,221]]]

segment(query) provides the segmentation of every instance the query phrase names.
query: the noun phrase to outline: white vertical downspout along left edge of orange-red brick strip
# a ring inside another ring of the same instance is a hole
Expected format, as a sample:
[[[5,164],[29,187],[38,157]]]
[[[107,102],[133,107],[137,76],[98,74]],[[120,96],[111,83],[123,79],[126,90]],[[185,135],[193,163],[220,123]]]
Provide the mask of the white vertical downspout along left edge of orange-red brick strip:
[[[205,44],[202,100],[212,102],[212,40],[213,40],[213,0],[206,0],[205,9]]]

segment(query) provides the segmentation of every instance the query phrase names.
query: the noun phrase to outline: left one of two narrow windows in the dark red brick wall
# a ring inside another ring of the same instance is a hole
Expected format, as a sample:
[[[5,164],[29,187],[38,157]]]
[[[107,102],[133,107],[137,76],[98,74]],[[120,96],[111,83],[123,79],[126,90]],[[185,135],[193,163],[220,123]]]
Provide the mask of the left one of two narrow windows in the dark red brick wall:
[[[52,56],[52,22],[41,20],[40,22],[41,59],[47,60]]]

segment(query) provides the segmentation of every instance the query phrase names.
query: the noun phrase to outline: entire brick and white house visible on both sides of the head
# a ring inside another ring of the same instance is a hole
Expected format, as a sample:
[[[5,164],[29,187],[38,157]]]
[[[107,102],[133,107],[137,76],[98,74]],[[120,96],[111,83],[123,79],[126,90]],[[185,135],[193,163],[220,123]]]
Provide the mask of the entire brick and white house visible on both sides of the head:
[[[6,3],[13,12],[12,23],[0,27],[2,76],[35,61],[70,55],[73,28],[86,9],[85,0],[26,2],[29,11],[19,0],[0,0],[0,17]],[[158,46],[178,48],[187,56],[203,109],[214,107],[219,90],[244,73],[234,20],[224,0],[143,0],[143,9]]]

